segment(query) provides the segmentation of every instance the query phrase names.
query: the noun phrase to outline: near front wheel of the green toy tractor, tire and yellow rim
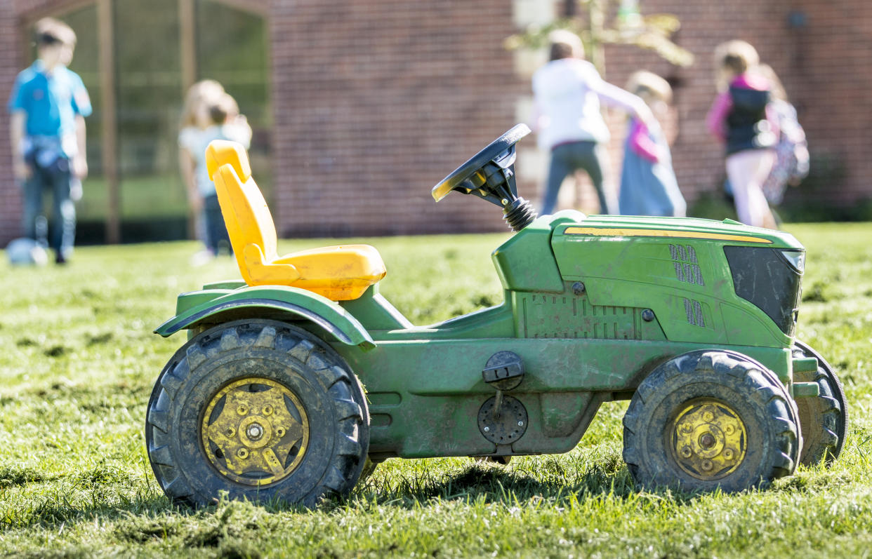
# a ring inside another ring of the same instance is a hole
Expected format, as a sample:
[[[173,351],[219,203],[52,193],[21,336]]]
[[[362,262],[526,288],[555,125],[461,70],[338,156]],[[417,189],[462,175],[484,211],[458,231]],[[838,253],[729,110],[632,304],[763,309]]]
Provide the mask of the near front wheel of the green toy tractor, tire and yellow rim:
[[[718,351],[654,369],[623,426],[623,459],[645,486],[742,491],[792,474],[799,455],[784,386],[752,360]]]

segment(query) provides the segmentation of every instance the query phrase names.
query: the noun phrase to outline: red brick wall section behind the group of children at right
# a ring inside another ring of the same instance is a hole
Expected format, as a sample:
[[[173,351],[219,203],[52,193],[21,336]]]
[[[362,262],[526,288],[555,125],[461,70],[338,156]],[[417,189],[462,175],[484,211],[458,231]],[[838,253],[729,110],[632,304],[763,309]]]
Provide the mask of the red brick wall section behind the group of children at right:
[[[682,27],[677,42],[696,55],[696,63],[679,69],[651,53],[614,47],[607,51],[606,77],[623,84],[631,71],[648,68],[682,83],[676,91],[679,128],[672,156],[685,197],[696,199],[719,188],[721,152],[704,125],[714,95],[712,53],[720,42],[741,38],[757,47],[760,59],[784,82],[806,130],[812,164],[835,169],[828,185],[801,188],[791,196],[828,205],[872,198],[867,148],[872,129],[872,4],[644,0],[642,5],[645,13],[678,15]],[[619,161],[618,148],[613,142]]]

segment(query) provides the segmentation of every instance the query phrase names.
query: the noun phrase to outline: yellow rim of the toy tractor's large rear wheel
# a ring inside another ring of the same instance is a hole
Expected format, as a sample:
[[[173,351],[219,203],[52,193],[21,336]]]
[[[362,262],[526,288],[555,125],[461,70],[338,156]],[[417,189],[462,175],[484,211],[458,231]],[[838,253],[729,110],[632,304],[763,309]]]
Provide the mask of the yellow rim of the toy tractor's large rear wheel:
[[[309,445],[309,418],[288,387],[260,377],[212,397],[201,420],[209,463],[228,479],[262,487],[290,475]]]

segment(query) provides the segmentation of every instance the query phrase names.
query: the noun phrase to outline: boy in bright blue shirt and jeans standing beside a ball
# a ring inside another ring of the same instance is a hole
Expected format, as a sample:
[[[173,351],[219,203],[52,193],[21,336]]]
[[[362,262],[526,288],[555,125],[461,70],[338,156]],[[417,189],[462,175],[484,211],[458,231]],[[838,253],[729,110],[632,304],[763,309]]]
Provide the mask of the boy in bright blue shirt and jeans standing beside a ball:
[[[81,77],[67,69],[76,34],[63,22],[36,25],[37,61],[21,71],[9,101],[13,173],[24,195],[24,235],[36,238],[43,194],[51,192],[50,245],[63,264],[76,235],[74,199],[81,196],[85,160],[85,117],[91,100]],[[78,192],[77,192],[78,191]]]

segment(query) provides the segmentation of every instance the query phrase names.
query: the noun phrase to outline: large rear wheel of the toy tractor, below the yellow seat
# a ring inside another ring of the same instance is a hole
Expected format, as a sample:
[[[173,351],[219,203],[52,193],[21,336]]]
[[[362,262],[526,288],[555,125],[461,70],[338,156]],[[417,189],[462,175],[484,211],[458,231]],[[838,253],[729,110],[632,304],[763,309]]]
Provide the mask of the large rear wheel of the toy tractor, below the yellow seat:
[[[282,322],[231,322],[176,352],[148,402],[146,446],[174,502],[314,506],[348,493],[369,448],[364,394],[322,340]]]

